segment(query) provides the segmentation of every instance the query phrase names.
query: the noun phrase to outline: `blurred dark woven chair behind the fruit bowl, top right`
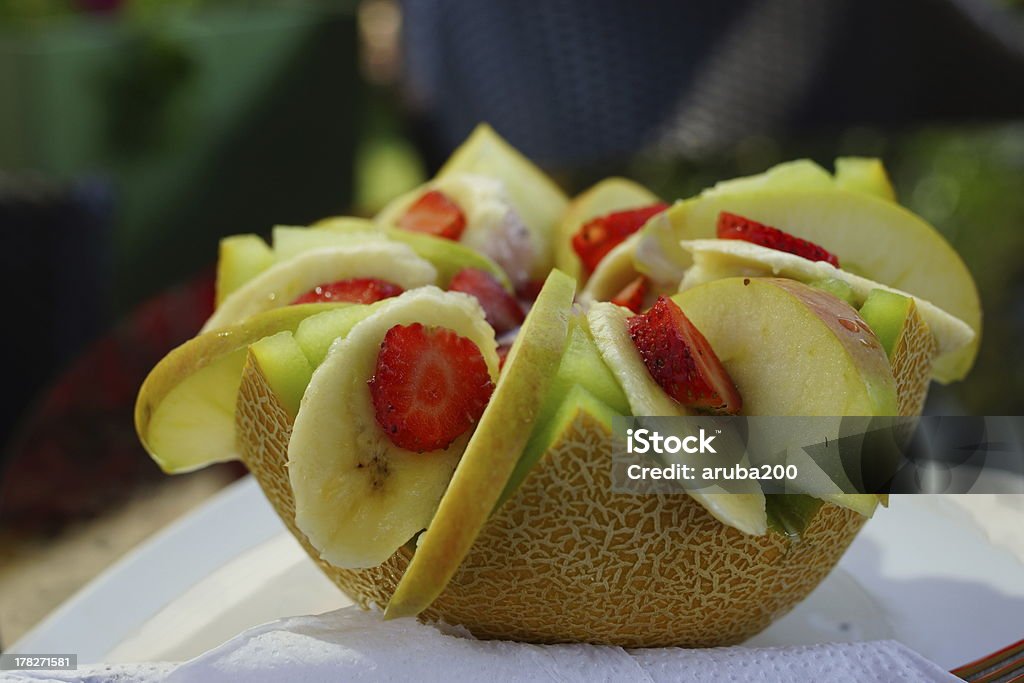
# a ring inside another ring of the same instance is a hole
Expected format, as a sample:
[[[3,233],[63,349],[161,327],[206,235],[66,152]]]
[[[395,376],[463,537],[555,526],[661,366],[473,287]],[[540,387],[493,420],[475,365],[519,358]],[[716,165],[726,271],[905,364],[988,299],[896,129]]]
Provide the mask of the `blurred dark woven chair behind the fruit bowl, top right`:
[[[433,165],[479,121],[578,168],[755,135],[1024,117],[1020,10],[989,0],[404,0]]]

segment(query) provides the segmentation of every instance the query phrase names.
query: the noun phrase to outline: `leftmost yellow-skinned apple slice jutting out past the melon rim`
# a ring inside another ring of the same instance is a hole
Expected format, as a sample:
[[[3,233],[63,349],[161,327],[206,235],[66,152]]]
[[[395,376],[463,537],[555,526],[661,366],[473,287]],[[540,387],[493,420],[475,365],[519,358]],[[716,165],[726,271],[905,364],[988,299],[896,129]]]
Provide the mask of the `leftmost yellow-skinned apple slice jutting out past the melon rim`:
[[[314,313],[345,305],[278,308],[200,335],[164,356],[135,402],[135,430],[161,469],[188,472],[238,459],[234,403],[246,349],[263,337],[295,330]]]

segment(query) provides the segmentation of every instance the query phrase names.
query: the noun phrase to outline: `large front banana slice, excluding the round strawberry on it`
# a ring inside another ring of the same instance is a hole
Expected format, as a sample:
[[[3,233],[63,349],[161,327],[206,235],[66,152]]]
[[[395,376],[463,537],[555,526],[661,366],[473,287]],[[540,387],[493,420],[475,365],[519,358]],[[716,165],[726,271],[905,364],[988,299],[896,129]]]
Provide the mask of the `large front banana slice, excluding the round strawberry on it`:
[[[367,381],[387,331],[449,328],[480,349],[498,377],[494,330],[476,299],[424,287],[380,304],[331,347],[302,397],[288,446],[295,523],[321,556],[344,568],[377,566],[426,528],[470,434],[413,453],[377,423]]]

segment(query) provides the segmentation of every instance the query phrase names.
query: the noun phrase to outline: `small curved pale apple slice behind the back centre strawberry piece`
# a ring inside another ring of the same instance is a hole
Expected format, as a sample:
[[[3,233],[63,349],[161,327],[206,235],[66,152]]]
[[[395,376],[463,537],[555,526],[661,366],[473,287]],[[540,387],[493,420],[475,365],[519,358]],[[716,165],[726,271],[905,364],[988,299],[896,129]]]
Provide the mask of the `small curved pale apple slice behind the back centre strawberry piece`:
[[[583,264],[572,250],[572,236],[587,221],[615,211],[650,206],[662,200],[643,185],[627,178],[605,178],[577,196],[558,224],[555,267],[584,282]],[[617,292],[617,290],[616,290]]]

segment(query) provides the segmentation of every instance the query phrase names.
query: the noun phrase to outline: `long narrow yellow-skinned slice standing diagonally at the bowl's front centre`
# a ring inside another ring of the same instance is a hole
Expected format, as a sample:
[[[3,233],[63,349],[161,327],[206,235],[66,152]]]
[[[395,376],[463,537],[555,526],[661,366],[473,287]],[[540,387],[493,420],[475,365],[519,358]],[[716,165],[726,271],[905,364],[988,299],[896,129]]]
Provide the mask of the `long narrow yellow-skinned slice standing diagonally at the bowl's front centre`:
[[[565,351],[574,292],[575,282],[568,275],[554,270],[548,276],[437,513],[387,605],[386,618],[413,616],[429,606],[494,512]]]

